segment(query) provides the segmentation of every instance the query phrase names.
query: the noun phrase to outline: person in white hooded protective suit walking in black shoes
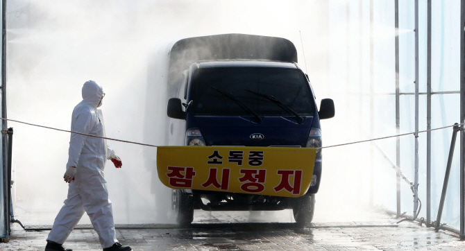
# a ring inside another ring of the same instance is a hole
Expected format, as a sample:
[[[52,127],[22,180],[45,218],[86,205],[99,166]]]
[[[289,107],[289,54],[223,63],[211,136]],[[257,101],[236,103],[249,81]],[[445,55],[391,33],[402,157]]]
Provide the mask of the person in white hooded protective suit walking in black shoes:
[[[115,151],[106,145],[103,117],[97,107],[102,105],[105,93],[100,85],[89,80],[83,86],[83,101],[74,107],[71,118],[69,157],[64,175],[69,183],[65,205],[55,218],[47,238],[46,251],[71,251],[62,244],[76,227],[84,211],[90,217],[94,230],[104,251],[128,251],[116,239],[113,223],[112,203],[108,200],[107,182],[103,177],[106,159],[111,159],[117,168],[121,168],[121,159]]]

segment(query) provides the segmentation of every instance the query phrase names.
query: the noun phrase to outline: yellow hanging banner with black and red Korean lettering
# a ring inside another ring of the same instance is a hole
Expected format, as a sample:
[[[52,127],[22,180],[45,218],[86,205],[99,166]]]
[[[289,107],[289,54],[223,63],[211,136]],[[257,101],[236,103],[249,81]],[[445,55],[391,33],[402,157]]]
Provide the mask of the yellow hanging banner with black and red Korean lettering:
[[[158,146],[160,181],[172,189],[303,196],[316,148]]]

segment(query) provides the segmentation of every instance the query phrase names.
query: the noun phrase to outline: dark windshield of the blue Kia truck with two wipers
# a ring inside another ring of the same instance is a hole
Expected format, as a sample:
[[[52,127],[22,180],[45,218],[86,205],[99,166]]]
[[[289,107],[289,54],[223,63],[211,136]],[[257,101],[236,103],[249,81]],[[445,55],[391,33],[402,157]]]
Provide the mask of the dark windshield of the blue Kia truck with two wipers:
[[[204,116],[251,116],[221,89],[260,116],[314,115],[314,101],[307,79],[298,69],[276,67],[212,67],[196,69],[192,78],[192,113]],[[290,109],[254,94],[272,96]],[[294,113],[295,112],[295,113]]]

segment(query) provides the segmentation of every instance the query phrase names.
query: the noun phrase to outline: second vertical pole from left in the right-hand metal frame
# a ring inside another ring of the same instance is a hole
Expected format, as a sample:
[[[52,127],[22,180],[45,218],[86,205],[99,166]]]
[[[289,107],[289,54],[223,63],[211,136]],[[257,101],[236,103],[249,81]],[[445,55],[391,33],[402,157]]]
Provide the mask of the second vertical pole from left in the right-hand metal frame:
[[[415,0],[415,180],[414,218],[418,208],[418,0]]]

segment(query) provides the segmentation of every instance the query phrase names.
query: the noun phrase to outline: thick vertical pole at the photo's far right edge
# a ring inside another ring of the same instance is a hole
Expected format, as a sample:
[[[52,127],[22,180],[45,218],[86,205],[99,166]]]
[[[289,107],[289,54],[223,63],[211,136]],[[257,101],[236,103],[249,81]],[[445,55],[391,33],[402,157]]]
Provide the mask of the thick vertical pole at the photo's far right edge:
[[[465,3],[460,6],[460,123],[465,123]],[[464,128],[464,126],[462,126]],[[460,239],[465,240],[465,133],[460,130]]]

